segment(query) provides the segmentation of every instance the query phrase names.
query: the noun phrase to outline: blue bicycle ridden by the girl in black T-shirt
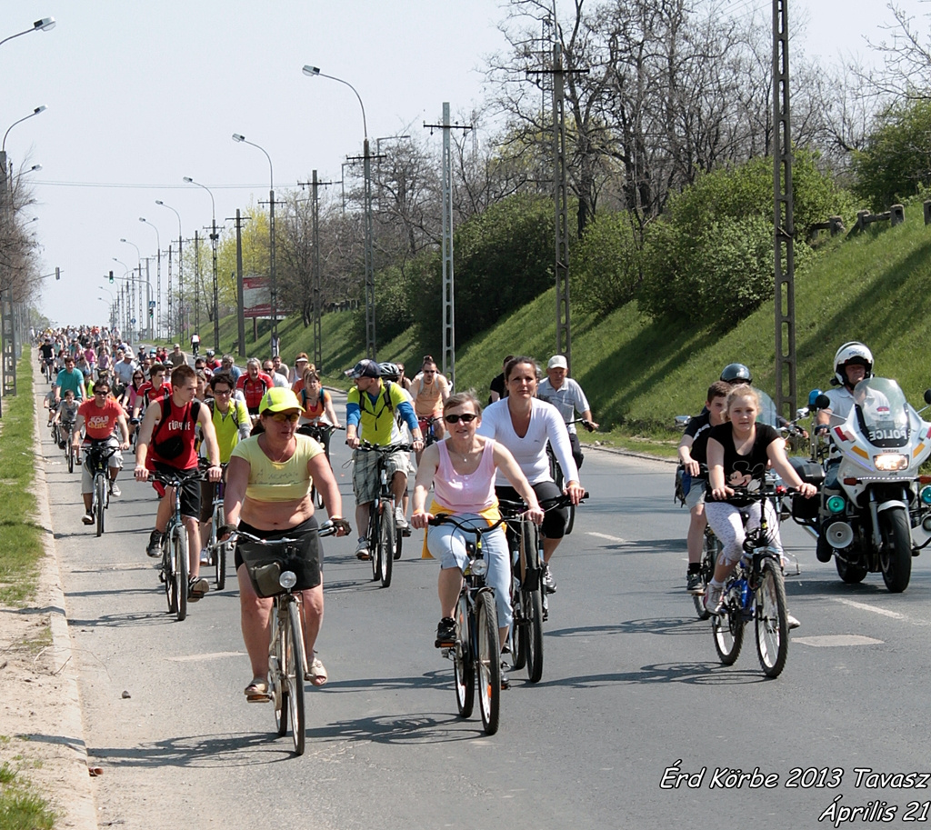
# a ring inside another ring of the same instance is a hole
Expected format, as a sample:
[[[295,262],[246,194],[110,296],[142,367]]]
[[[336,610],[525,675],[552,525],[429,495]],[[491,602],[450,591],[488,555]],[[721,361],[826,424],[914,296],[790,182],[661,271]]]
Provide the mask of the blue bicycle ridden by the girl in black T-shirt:
[[[735,492],[761,502],[760,527],[747,534],[743,556],[724,583],[722,604],[711,620],[714,647],[724,665],[733,665],[743,645],[744,625],[752,620],[763,674],[777,677],[789,656],[789,611],[781,557],[772,544],[765,502],[793,490],[770,486],[754,491],[735,488]],[[741,516],[746,524],[748,513],[741,510]]]

